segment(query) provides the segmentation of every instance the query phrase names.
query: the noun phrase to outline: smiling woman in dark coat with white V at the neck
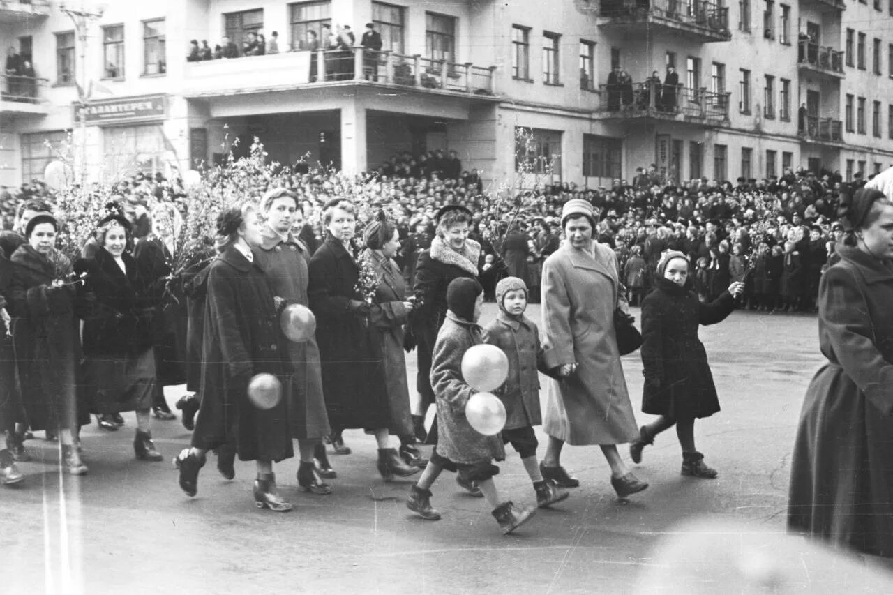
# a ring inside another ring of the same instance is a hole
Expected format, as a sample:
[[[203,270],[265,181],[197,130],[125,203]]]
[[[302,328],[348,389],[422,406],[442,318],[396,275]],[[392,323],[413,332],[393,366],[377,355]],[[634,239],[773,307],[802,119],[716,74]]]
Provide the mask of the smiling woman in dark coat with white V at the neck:
[[[130,224],[120,214],[99,222],[96,256],[82,258],[86,273],[79,299],[83,327],[84,380],[93,412],[104,417],[135,411],[137,458],[161,461],[152,441],[151,408],[155,390],[154,315],[162,283],[150,285],[127,251]]]

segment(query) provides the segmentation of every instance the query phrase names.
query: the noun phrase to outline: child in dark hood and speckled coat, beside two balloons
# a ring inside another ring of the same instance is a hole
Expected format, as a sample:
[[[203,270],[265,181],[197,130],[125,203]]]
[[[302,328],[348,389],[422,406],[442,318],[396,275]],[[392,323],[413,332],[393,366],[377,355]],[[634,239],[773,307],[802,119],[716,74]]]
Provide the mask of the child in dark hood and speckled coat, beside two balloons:
[[[498,435],[480,434],[465,417],[468,399],[477,391],[463,379],[462,358],[469,348],[483,342],[477,324],[483,302],[484,289],[476,279],[460,277],[447,286],[447,319],[438,331],[431,361],[431,387],[438,406],[438,445],[413,485],[406,507],[422,518],[438,520],[440,514],[430,504],[430,487],[444,469],[457,471],[463,482],[477,482],[493,507],[500,528],[510,533],[527,522],[537,509],[515,507],[511,500],[502,498],[493,482],[499,473],[493,459],[505,459],[503,441]]]

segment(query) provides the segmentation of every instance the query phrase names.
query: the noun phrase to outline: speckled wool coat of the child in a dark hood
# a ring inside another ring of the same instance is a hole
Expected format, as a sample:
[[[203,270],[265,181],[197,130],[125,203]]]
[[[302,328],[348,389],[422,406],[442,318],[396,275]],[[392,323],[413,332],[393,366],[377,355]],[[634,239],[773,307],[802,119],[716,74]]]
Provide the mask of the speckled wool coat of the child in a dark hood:
[[[462,357],[481,342],[480,326],[447,311],[434,345],[431,386],[437,395],[438,455],[460,465],[505,459],[502,437],[480,434],[465,416],[468,399],[478,391],[462,377]]]

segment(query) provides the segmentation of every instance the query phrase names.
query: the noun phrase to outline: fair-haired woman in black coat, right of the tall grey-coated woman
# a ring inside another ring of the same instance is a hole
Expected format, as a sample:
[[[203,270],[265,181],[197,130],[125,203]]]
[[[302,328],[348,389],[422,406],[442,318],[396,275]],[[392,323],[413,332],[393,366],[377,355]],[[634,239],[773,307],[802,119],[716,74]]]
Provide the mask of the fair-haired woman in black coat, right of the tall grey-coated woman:
[[[371,328],[371,307],[377,280],[361,280],[352,254],[355,233],[354,205],[335,198],[324,208],[326,241],[310,259],[307,292],[316,314],[316,341],[322,362],[322,390],[329,423],[335,432],[364,428],[379,447],[378,470],[385,481],[418,473],[390,446],[392,423],[384,360],[376,331]],[[367,286],[367,283],[369,284]],[[362,284],[362,291],[358,289]],[[366,293],[366,295],[363,295]]]

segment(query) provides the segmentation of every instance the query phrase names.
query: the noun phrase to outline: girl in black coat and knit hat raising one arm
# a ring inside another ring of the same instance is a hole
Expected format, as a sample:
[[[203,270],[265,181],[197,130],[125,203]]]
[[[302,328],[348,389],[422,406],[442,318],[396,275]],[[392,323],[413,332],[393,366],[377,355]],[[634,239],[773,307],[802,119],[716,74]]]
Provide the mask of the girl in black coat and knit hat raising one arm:
[[[719,298],[705,304],[691,290],[690,266],[681,252],[664,252],[657,264],[655,289],[642,302],[642,411],[660,417],[639,429],[638,440],[630,444],[630,457],[641,462],[642,448],[675,424],[682,447],[681,473],[712,479],[718,473],[705,465],[695,448],[695,419],[714,415],[720,402],[697,328],[725,320],[744,283],[731,283]]]

